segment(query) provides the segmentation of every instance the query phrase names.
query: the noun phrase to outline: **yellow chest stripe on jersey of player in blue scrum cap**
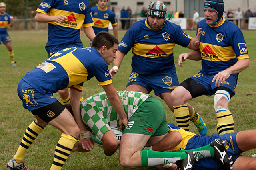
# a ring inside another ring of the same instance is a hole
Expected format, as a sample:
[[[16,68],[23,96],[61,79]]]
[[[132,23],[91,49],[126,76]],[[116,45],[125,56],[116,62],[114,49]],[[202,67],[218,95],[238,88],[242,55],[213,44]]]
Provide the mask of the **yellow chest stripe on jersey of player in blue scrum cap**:
[[[236,58],[232,46],[220,47],[217,45],[200,42],[201,57],[208,61],[229,61]]]

